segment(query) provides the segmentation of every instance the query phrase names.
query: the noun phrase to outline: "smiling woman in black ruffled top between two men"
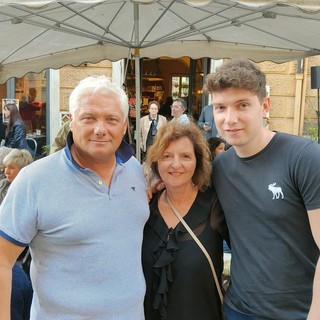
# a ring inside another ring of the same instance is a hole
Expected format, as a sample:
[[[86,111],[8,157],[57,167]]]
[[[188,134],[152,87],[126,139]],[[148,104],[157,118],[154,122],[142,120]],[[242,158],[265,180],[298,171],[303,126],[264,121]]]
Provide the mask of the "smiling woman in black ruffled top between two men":
[[[166,200],[167,195],[198,236],[220,279],[227,230],[215,193],[208,189],[208,144],[196,124],[170,122],[159,130],[146,165],[166,188],[152,198],[144,229],[146,320],[219,320],[221,304],[209,263]]]

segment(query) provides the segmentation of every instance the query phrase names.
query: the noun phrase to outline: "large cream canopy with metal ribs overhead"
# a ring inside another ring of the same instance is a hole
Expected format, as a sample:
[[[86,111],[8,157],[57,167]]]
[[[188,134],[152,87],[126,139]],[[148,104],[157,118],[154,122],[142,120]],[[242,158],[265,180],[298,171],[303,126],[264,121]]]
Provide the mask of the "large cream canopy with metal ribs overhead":
[[[1,0],[0,83],[132,55],[295,60],[320,54],[319,10],[318,0]]]

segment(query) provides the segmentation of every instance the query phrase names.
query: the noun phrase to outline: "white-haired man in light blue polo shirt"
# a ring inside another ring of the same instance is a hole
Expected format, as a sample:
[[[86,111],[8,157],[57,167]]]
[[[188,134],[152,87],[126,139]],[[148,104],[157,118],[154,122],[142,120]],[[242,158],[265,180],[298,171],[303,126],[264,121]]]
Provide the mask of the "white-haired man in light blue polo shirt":
[[[105,77],[70,96],[64,149],[34,162],[0,209],[0,319],[10,319],[11,269],[29,245],[31,319],[143,320],[143,172],[122,137],[128,100]]]

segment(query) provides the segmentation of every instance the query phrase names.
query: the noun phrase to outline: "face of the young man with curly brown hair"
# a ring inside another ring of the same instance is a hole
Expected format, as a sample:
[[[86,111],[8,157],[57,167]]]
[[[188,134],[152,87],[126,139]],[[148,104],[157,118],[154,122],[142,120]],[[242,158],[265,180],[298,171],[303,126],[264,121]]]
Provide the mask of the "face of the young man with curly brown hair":
[[[218,132],[236,152],[260,151],[260,146],[265,144],[263,117],[269,111],[269,98],[260,102],[251,91],[228,88],[214,92],[212,102]]]

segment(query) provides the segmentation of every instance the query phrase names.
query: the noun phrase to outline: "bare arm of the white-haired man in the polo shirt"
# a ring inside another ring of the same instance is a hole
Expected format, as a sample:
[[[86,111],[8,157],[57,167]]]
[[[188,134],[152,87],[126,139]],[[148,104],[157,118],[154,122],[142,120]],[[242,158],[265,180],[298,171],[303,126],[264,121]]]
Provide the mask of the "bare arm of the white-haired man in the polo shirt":
[[[10,320],[12,268],[23,247],[0,237],[0,319]]]

